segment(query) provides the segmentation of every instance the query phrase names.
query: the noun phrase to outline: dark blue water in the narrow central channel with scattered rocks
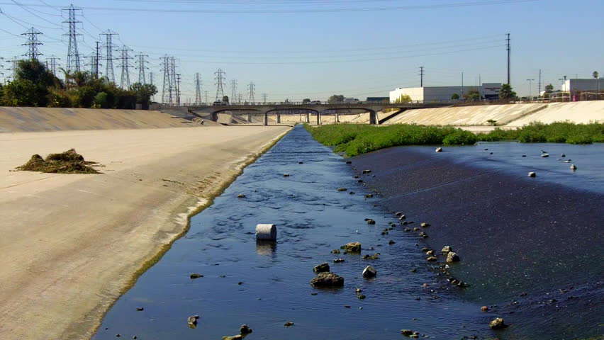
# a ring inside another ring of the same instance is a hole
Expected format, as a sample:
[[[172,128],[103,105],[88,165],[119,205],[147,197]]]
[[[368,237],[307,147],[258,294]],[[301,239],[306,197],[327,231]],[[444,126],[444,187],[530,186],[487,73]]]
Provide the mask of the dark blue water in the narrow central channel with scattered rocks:
[[[493,315],[442,284],[417,237],[401,226],[381,235],[396,218],[366,193],[342,158],[294,128],[192,218],[186,237],[116,302],[93,339],[221,339],[241,324],[254,330],[247,339],[399,339],[401,329],[427,339],[493,336]],[[276,246],[255,242],[257,223],[278,226]],[[347,242],[362,242],[363,254],[381,258],[330,254]],[[332,263],[337,257],[346,261]],[[344,288],[309,284],[323,261],[345,278]],[[368,280],[361,273],[369,264],[378,276]],[[204,277],[191,280],[190,273]],[[367,298],[359,300],[355,288]],[[201,316],[196,329],[186,322],[193,314]],[[284,327],[289,321],[295,325]]]

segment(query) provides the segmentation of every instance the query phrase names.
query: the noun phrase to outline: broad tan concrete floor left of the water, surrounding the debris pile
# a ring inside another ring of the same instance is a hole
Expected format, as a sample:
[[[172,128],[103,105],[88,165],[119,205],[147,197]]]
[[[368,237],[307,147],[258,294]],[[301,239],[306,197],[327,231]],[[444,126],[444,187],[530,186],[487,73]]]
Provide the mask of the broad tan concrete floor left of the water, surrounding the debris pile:
[[[0,134],[0,339],[89,339],[135,272],[283,126]],[[10,171],[74,147],[104,174]]]

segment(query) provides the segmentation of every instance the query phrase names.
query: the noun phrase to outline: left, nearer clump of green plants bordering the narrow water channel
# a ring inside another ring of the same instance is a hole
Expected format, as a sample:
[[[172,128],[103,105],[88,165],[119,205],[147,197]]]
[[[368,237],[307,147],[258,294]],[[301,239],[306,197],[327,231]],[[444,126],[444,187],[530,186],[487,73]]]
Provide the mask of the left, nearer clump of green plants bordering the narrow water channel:
[[[478,141],[474,133],[452,127],[337,124],[317,128],[306,125],[306,129],[318,142],[349,157],[399,145],[473,145]]]

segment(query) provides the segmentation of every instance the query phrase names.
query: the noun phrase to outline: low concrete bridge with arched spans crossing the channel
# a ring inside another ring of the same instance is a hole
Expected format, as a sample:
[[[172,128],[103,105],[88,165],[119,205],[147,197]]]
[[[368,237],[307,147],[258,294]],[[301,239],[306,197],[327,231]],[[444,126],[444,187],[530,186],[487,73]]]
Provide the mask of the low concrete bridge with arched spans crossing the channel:
[[[218,113],[226,111],[237,112],[247,111],[248,120],[251,115],[262,114],[264,116],[264,125],[269,125],[269,113],[276,114],[276,123],[281,123],[281,115],[292,111],[297,113],[306,113],[306,123],[311,123],[311,113],[317,116],[317,125],[321,125],[321,115],[332,113],[335,115],[335,122],[340,123],[340,115],[357,114],[349,113],[352,110],[369,112],[369,124],[379,124],[378,112],[388,108],[395,109],[384,118],[393,117],[403,111],[413,108],[440,108],[450,106],[449,103],[335,103],[335,104],[310,104],[310,103],[252,103],[252,104],[233,104],[233,105],[200,105],[187,106],[187,110],[196,115],[211,115],[212,120],[218,120]]]

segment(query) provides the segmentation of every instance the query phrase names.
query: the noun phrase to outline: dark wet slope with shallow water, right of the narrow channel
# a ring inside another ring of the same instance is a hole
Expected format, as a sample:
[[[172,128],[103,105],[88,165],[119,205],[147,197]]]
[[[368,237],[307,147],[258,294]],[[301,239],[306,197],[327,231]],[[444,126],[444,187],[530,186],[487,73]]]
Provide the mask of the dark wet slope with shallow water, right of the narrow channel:
[[[395,147],[351,160],[359,178],[380,194],[376,202],[415,222],[399,229],[430,223],[412,231],[428,235],[418,235],[418,251],[427,246],[440,254],[449,245],[461,256],[449,272],[469,287],[452,289],[511,325],[499,339],[603,334],[604,183],[586,179],[574,188],[572,174],[562,180],[571,185],[547,181],[566,174],[535,165],[539,151],[522,158],[526,166],[510,166],[476,148],[483,154],[471,156],[461,147],[438,154],[433,147]],[[537,178],[528,178],[535,167]],[[371,173],[362,174],[366,169]],[[445,263],[443,256],[439,263]]]

